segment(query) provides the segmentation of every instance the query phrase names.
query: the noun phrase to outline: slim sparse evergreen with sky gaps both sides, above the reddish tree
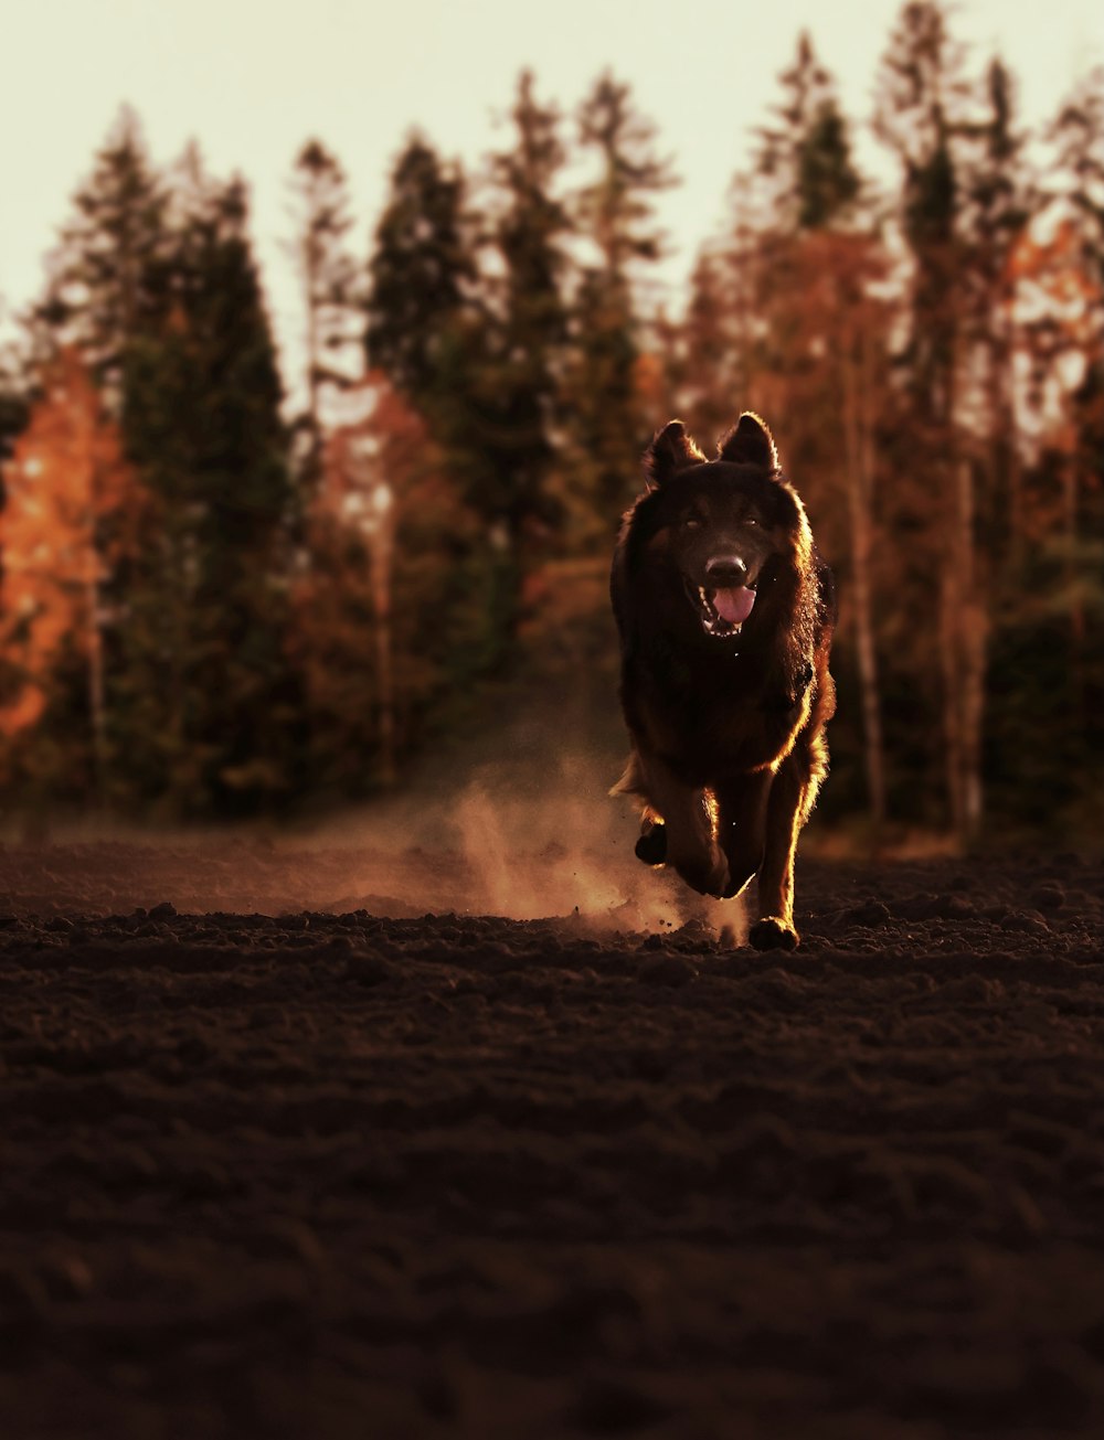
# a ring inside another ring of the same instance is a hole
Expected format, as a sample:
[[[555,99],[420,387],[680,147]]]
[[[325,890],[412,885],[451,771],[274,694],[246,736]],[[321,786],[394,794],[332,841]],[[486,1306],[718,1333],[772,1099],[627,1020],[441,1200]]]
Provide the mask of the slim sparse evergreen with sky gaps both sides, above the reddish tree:
[[[308,469],[316,471],[327,393],[344,390],[363,370],[360,275],[346,238],[353,226],[342,166],[317,140],[295,160],[295,235],[288,246],[298,271],[306,315],[304,369]]]

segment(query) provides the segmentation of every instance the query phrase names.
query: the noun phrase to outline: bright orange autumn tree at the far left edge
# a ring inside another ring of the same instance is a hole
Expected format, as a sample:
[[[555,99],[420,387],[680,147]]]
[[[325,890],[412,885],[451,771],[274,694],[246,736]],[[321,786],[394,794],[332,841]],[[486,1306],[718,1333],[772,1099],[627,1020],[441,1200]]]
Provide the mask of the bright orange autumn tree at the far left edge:
[[[63,770],[88,759],[94,789],[104,780],[105,582],[125,549],[121,524],[133,494],[118,428],[75,350],[45,369],[42,393],[3,468],[0,511],[0,743],[36,773],[56,762],[35,756],[35,733],[49,707],[82,713],[66,734]]]

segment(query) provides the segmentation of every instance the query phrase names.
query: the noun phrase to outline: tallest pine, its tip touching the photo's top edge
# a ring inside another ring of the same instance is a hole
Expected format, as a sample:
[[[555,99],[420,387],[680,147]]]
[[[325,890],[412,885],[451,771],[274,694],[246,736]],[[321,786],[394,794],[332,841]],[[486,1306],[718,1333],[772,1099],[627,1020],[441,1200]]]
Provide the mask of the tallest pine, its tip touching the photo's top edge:
[[[879,72],[875,128],[902,173],[898,223],[911,269],[908,436],[899,469],[914,477],[907,510],[915,530],[902,593],[934,609],[934,652],[915,635],[912,664],[943,678],[943,744],[951,828],[973,841],[981,824],[981,716],[986,657],[986,577],[976,549],[974,461],[963,444],[963,359],[969,337],[964,264],[961,53],[943,7],[911,0],[901,12]],[[917,481],[920,481],[917,484]]]

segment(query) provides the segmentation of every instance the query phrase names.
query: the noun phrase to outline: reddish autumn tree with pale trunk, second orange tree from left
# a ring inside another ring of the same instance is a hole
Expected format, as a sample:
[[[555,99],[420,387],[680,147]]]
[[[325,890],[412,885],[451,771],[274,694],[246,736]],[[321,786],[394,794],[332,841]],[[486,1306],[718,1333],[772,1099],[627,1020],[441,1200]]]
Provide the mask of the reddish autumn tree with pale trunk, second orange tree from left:
[[[395,779],[481,668],[493,622],[478,523],[422,419],[380,372],[342,405],[344,423],[323,445],[291,638],[311,779],[331,799]]]

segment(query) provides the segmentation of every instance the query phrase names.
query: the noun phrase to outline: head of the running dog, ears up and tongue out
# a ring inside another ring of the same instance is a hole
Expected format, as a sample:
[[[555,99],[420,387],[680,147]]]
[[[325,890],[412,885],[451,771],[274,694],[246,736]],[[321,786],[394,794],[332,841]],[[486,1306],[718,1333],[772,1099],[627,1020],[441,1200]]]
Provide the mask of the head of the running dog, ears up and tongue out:
[[[650,500],[647,550],[679,570],[706,635],[738,635],[777,562],[800,560],[811,543],[771,432],[747,410],[718,445],[718,458],[706,461],[682,420],[672,420],[646,451],[644,467],[659,491]]]

